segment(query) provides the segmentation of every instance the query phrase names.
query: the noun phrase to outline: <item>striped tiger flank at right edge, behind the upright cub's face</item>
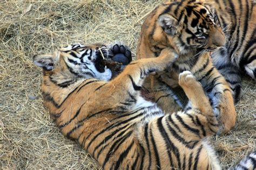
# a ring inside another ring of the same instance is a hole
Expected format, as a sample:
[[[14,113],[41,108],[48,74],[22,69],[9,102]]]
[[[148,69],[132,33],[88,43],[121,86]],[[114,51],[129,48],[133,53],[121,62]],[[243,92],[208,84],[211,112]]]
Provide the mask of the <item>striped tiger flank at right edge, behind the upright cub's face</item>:
[[[235,101],[241,98],[241,76],[256,80],[256,1],[214,0],[226,43],[212,53],[213,63],[230,84]]]

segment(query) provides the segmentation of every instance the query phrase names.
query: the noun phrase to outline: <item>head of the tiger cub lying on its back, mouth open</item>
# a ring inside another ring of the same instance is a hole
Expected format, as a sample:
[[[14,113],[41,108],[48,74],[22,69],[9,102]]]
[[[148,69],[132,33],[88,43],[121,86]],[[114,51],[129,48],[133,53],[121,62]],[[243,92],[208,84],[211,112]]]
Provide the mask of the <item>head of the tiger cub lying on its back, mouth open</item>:
[[[103,64],[108,49],[104,44],[71,44],[55,53],[36,55],[33,62],[51,74],[51,77],[96,78],[110,80],[111,70]],[[65,76],[60,76],[65,75]]]

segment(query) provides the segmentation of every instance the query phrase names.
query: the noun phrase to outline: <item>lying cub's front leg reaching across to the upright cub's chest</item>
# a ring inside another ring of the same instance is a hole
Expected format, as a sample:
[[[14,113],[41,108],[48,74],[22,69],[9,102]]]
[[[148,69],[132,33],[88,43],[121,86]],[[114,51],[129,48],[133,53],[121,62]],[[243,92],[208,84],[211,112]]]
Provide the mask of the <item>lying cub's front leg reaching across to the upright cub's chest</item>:
[[[134,100],[142,88],[144,78],[152,72],[163,71],[166,67],[171,66],[177,58],[176,52],[166,48],[157,58],[139,59],[130,63],[122,73],[109,82],[112,86],[111,95],[117,101],[122,101],[124,96],[120,96],[119,90],[127,91],[127,97]]]

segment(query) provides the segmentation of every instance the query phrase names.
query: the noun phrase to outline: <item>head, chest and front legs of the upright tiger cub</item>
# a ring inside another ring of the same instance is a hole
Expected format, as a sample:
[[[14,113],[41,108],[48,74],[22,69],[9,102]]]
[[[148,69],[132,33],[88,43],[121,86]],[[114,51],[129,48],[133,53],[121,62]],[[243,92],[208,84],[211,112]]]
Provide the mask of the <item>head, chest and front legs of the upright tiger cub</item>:
[[[166,47],[174,48],[179,58],[172,68],[147,79],[144,86],[153,90],[158,105],[170,112],[173,111],[173,106],[169,105],[173,103],[172,87],[178,86],[179,73],[191,71],[210,99],[220,132],[226,133],[235,125],[237,114],[230,85],[210,56],[212,51],[219,51],[228,43],[217,13],[212,3],[199,0],[160,4],[146,17],[142,26],[137,58],[157,57]],[[185,110],[187,108],[190,108],[190,103]]]

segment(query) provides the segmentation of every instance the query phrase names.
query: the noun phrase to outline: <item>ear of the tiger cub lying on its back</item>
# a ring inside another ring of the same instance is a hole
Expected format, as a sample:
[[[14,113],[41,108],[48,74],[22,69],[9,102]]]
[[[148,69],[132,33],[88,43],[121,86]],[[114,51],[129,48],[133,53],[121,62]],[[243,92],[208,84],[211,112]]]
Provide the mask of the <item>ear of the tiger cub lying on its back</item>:
[[[33,62],[37,66],[42,67],[44,70],[52,70],[53,65],[57,62],[57,60],[58,57],[56,53],[33,56]]]

